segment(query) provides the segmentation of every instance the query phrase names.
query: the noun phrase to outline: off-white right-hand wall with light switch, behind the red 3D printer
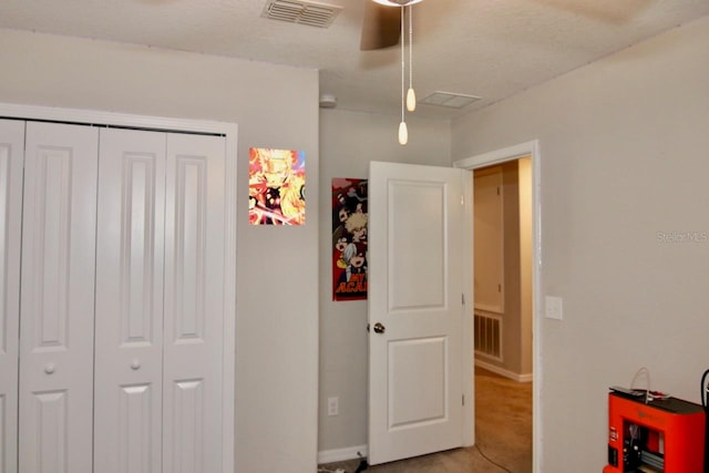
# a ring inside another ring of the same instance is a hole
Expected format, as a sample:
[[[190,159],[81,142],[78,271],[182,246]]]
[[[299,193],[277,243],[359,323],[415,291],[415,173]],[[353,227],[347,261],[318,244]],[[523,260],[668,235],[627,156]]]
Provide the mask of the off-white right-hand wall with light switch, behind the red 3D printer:
[[[453,124],[453,160],[540,140],[541,289],[564,299],[537,339],[543,472],[602,470],[607,387],[640,367],[654,389],[700,401],[708,84],[705,18]]]

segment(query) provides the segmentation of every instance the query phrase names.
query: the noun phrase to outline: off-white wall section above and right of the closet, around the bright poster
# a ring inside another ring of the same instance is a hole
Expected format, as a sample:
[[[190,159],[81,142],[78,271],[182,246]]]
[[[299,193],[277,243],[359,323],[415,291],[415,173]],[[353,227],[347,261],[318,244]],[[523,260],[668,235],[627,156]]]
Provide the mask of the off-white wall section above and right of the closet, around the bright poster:
[[[238,123],[236,467],[315,472],[318,72],[11,30],[0,64],[0,102]],[[306,152],[305,226],[247,225],[249,146]]]

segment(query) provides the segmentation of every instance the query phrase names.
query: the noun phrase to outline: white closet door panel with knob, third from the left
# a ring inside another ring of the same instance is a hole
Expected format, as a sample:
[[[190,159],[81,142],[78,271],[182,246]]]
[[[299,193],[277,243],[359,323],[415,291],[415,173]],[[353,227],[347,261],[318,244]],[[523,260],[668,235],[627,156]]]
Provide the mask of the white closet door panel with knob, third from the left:
[[[161,472],[165,134],[101,132],[95,471]]]

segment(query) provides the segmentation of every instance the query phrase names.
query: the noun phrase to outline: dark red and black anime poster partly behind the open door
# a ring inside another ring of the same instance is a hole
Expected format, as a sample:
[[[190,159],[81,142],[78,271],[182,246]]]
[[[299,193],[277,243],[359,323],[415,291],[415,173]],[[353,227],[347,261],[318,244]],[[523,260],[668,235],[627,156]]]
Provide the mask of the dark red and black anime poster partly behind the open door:
[[[332,300],[367,299],[367,179],[332,179]]]

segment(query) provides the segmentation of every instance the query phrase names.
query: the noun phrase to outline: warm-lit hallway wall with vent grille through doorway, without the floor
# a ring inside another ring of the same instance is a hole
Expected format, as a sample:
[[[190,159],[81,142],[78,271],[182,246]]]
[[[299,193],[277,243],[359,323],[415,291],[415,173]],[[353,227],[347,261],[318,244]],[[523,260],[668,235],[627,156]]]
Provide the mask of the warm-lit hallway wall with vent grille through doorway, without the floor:
[[[473,171],[475,366],[532,381],[532,158]]]

